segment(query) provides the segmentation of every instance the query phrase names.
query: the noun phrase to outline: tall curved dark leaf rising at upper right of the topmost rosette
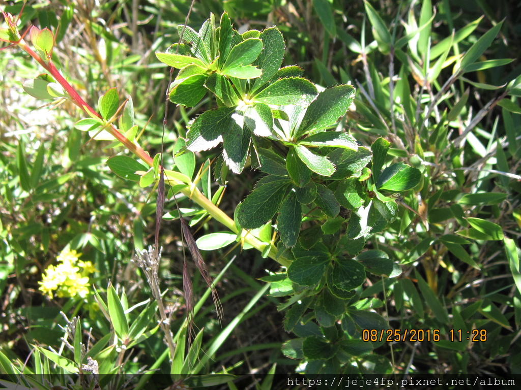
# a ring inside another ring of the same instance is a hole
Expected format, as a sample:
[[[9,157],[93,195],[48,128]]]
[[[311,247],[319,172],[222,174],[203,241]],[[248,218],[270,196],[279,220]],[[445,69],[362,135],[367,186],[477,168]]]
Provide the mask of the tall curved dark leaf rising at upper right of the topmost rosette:
[[[284,57],[284,38],[279,30],[274,27],[266,29],[259,38],[262,40],[263,49],[253,65],[262,70],[262,75],[253,82],[252,93],[274,77]]]

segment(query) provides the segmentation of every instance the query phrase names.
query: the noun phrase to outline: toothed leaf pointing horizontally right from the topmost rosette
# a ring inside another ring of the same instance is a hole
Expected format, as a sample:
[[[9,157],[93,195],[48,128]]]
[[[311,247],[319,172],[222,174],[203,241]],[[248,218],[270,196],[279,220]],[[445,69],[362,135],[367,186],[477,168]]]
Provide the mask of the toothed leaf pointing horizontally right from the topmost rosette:
[[[268,105],[308,105],[317,96],[315,85],[300,77],[280,79],[255,95],[256,101]]]

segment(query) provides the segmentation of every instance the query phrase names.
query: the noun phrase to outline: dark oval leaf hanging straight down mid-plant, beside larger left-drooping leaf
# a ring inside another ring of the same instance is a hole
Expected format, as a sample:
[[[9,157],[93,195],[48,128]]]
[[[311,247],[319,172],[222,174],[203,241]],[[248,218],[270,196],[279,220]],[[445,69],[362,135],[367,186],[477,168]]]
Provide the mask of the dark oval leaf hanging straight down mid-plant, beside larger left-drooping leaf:
[[[288,248],[295,246],[302,224],[302,205],[297,201],[295,191],[290,191],[282,202],[277,218],[280,239]]]

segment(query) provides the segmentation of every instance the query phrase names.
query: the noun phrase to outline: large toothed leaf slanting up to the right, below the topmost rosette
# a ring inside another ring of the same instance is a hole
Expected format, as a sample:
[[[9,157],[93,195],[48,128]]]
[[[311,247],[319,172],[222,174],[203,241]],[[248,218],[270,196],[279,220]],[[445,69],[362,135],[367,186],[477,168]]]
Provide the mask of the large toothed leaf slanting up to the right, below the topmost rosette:
[[[355,97],[352,85],[339,85],[321,92],[307,108],[295,136],[300,137],[336,123],[351,106]]]

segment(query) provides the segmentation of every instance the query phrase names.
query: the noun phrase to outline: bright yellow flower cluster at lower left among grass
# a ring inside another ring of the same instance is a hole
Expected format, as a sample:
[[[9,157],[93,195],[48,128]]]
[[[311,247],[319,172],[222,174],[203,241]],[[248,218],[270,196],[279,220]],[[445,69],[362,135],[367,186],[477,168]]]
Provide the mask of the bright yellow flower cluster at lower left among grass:
[[[40,284],[40,291],[49,297],[56,292],[58,297],[79,295],[85,298],[89,294],[89,275],[96,271],[92,262],[79,259],[81,253],[65,250],[57,256],[58,264],[49,265]]]

